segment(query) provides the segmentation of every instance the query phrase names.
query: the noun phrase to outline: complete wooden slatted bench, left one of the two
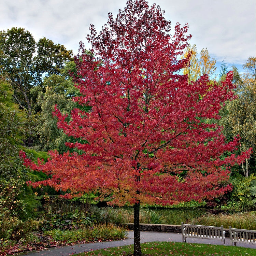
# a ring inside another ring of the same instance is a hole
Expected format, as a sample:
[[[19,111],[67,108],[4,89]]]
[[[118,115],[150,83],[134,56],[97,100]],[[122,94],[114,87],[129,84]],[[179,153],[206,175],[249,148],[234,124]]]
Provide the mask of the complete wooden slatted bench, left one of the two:
[[[222,245],[225,245],[225,231],[223,225],[221,227],[190,225],[181,223],[181,237],[182,242],[186,242],[189,238],[201,239],[216,239],[221,240]]]

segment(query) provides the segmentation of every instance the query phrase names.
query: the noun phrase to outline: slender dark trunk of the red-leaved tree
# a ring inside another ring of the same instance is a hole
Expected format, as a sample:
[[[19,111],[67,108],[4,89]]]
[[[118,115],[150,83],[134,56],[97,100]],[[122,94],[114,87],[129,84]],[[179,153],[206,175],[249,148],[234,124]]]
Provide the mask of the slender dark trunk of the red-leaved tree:
[[[140,247],[140,202],[133,206],[133,232],[133,256],[140,256],[142,255]]]

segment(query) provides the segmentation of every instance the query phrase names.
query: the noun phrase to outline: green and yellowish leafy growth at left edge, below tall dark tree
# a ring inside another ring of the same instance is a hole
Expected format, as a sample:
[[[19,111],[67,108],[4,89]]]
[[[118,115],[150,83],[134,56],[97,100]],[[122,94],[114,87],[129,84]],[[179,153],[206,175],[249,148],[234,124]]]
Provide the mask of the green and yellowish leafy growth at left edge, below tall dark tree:
[[[34,211],[40,204],[28,180],[39,180],[28,172],[19,157],[21,145],[31,132],[31,117],[12,102],[12,88],[0,80],[0,239],[14,227],[20,227],[22,220],[35,217]],[[30,154],[31,155],[31,154]],[[31,155],[32,156],[32,155]],[[9,231],[8,231],[9,230]],[[14,232],[15,234],[16,232]]]

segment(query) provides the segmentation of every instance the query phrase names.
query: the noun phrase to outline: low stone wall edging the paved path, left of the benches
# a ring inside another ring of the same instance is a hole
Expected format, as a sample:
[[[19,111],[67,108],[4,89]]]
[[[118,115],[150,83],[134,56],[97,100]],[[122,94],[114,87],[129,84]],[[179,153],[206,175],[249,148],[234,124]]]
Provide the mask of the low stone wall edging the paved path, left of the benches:
[[[133,223],[124,224],[130,230],[133,230]],[[163,225],[163,224],[140,224],[141,231],[158,231],[158,232],[170,232],[181,233],[181,225]],[[226,231],[226,237],[229,237],[229,229],[224,228]]]

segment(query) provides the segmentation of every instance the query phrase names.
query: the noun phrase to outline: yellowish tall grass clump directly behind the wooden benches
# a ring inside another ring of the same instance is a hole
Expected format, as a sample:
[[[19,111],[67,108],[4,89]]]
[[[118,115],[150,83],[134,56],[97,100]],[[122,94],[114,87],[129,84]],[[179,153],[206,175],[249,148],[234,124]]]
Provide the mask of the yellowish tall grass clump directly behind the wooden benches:
[[[223,225],[224,228],[241,228],[256,230],[256,211],[233,213],[230,215],[219,213],[217,215],[208,214],[193,220],[193,224],[204,226],[216,226]]]

